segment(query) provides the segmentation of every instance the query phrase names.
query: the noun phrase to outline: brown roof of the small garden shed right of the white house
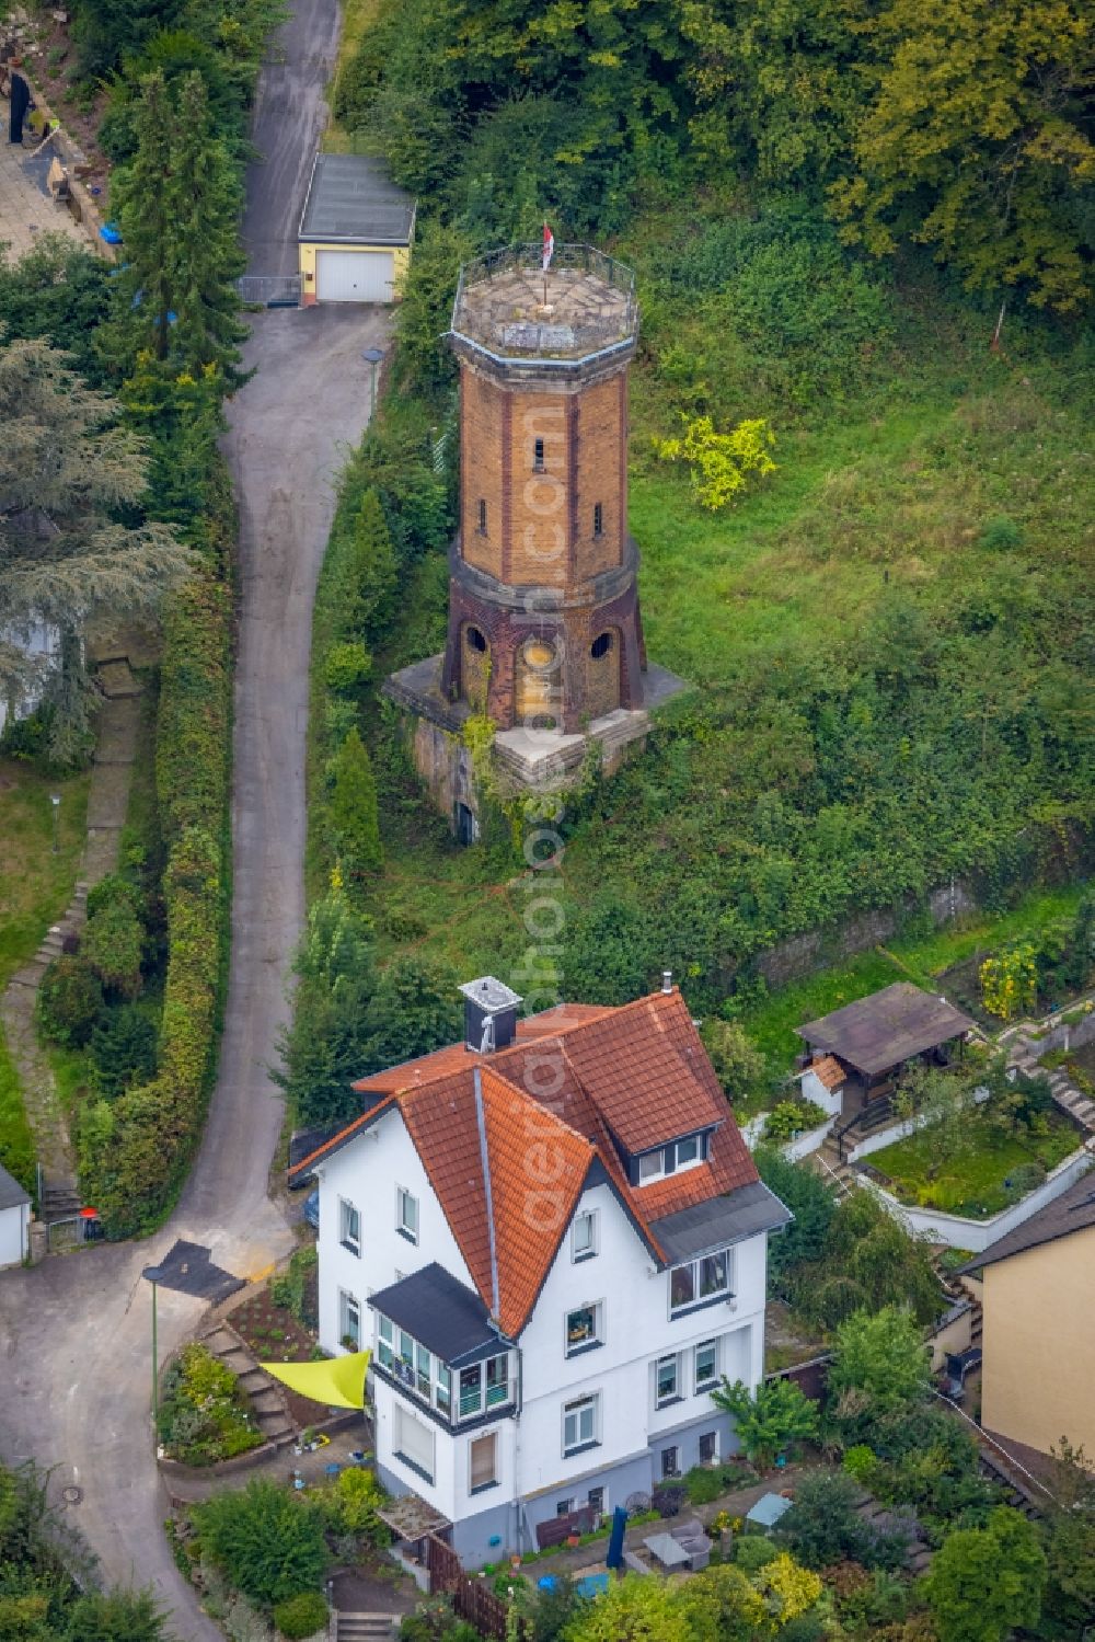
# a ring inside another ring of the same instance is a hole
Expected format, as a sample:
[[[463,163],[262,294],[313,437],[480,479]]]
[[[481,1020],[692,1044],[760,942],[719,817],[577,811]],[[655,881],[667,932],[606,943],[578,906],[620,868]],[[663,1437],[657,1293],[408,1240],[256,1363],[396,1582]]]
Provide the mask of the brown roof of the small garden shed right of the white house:
[[[811,1048],[826,1049],[857,1072],[875,1077],[970,1031],[974,1021],[946,998],[896,980],[868,998],[847,1003],[832,1015],[796,1026]]]

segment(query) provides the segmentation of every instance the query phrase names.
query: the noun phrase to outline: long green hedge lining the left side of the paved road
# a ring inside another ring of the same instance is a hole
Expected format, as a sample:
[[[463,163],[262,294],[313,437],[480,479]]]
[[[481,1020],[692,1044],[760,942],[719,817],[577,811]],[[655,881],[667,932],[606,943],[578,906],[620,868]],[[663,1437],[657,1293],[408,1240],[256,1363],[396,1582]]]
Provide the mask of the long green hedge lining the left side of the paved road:
[[[222,565],[235,537],[223,479],[215,511]],[[227,975],[230,754],[231,594],[220,565],[205,565],[164,617],[156,791],[169,954],[159,1071],[113,1103],[99,1102],[80,1125],[84,1195],[112,1238],[164,1218],[202,1131]]]

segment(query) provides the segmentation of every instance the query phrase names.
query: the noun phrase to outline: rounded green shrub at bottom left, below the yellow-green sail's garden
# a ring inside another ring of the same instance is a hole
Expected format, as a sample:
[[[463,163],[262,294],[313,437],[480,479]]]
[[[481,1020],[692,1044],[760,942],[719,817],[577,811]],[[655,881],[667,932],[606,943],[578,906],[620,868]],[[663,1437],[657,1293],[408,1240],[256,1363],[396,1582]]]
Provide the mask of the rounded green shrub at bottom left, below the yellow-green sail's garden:
[[[251,1481],[192,1507],[202,1553],[245,1596],[273,1606],[318,1589],[327,1566],[323,1525],[284,1488]]]

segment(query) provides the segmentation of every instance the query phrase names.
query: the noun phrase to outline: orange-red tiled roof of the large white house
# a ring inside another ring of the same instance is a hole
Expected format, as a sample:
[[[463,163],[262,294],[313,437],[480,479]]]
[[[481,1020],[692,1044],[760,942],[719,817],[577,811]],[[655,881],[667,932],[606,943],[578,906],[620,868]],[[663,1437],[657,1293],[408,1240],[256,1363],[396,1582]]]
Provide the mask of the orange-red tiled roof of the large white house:
[[[494,1054],[455,1044],[363,1077],[355,1089],[386,1098],[297,1169],[397,1105],[489,1307],[494,1282],[476,1071],[491,1171],[497,1322],[509,1338],[529,1320],[596,1158],[660,1259],[652,1222],[758,1179],[678,992],[657,992],[622,1008],[566,1005],[520,1021],[517,1041]],[[612,1135],[635,1153],[701,1128],[714,1128],[706,1163],[630,1186]]]

